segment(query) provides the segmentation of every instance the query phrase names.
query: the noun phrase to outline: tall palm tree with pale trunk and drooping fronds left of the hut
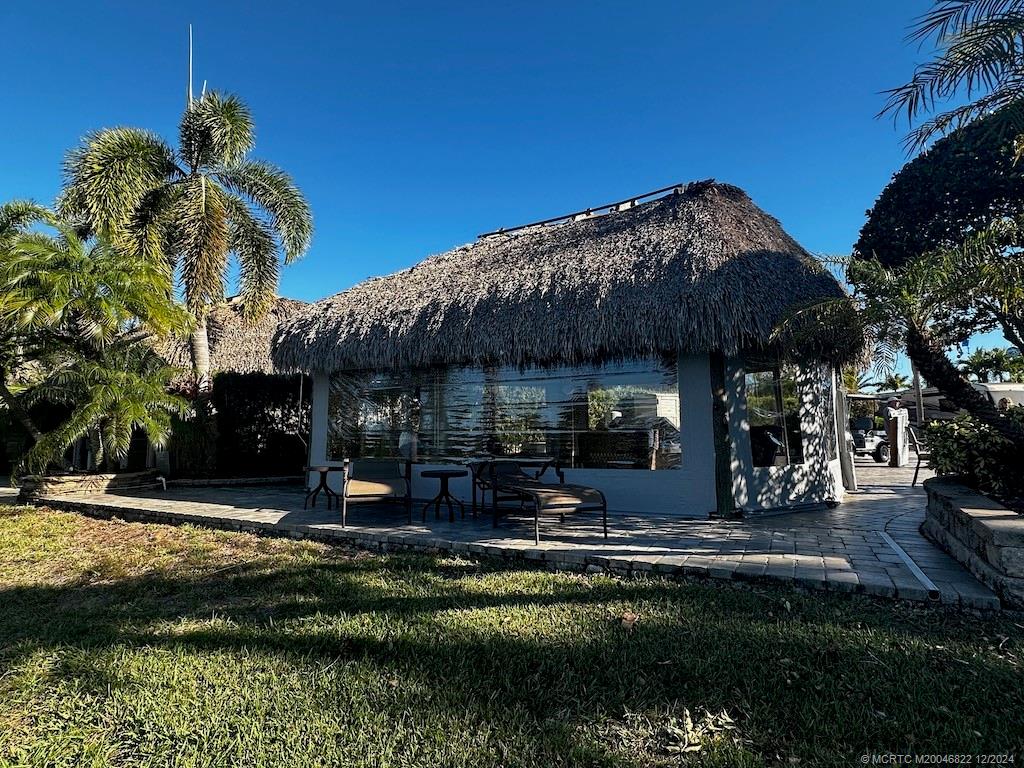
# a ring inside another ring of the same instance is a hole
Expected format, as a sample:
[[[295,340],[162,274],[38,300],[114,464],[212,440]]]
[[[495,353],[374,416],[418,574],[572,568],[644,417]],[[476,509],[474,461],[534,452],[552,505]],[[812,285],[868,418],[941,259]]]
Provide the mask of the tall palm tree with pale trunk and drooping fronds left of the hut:
[[[211,92],[189,97],[176,150],[148,131],[114,128],[87,136],[65,164],[62,215],[176,269],[196,318],[201,392],[211,384],[206,312],[224,297],[229,258],[245,315],[256,319],[273,301],[282,254],[291,263],[312,237],[305,198],[284,171],[249,159],[253,145],[246,105]]]

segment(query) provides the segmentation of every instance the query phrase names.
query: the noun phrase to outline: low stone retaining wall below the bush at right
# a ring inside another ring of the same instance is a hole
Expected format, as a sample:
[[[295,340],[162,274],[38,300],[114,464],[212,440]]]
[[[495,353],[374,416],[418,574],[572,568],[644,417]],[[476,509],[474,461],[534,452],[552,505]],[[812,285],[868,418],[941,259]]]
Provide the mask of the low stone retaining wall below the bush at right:
[[[959,560],[1008,605],[1024,608],[1024,515],[954,478],[925,480],[922,531]]]

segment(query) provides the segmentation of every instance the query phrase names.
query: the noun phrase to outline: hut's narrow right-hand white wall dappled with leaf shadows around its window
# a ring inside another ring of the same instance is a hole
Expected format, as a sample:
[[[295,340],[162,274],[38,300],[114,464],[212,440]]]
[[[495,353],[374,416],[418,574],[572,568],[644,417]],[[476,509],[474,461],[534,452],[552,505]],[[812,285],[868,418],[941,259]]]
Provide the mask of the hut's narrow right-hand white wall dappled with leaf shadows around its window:
[[[829,439],[838,429],[825,424],[826,403],[818,381],[821,370],[801,370],[797,379],[801,395],[800,419],[804,439],[803,464],[785,467],[755,467],[751,454],[750,422],[746,417],[745,371],[742,361],[730,358],[726,365],[729,400],[729,436],[732,445],[732,489],[736,506],[744,511],[779,509],[803,504],[843,500],[842,468],[839,459],[829,461]],[[834,381],[835,386],[835,381]]]

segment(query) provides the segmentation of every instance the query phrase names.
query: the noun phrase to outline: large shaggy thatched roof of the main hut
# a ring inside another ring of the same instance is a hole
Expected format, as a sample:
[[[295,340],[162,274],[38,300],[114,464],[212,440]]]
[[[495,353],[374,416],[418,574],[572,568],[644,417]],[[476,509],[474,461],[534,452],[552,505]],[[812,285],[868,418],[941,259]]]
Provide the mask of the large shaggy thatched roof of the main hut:
[[[622,207],[482,237],[311,304],[273,359],[329,372],[733,353],[764,345],[788,307],[844,295],[735,186]]]

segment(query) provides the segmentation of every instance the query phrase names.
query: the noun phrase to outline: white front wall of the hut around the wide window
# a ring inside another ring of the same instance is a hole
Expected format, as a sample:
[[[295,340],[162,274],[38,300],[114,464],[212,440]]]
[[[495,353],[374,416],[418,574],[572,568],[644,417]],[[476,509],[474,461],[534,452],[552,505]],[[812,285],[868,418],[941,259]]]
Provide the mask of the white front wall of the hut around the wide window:
[[[327,376],[313,378],[312,428],[309,439],[309,464],[337,464],[327,455],[328,399],[330,381]],[[679,517],[708,517],[715,503],[715,440],[712,427],[711,367],[708,355],[679,357],[680,469],[566,469],[566,482],[599,488],[608,500],[608,509],[615,512],[647,512]],[[451,468],[452,465],[417,464],[413,468],[413,496],[429,499],[437,493],[438,481],[420,477],[427,469]],[[547,476],[554,477],[549,471]],[[319,482],[310,473],[308,482]],[[332,473],[333,488],[340,488],[341,473]],[[450,480],[452,493],[469,502],[471,485],[468,478]],[[467,508],[468,509],[468,508]],[[419,508],[416,514],[419,514]]]

